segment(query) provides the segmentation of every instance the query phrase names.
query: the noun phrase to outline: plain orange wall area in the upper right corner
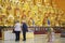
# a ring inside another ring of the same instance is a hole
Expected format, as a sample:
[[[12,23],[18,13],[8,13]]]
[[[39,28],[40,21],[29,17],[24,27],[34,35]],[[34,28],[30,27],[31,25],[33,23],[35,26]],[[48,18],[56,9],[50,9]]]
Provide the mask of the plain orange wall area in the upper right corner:
[[[56,6],[64,12],[65,16],[65,0],[53,0],[53,2],[56,4]],[[63,16],[63,15],[61,15]],[[65,17],[63,16],[63,22],[65,20]]]

